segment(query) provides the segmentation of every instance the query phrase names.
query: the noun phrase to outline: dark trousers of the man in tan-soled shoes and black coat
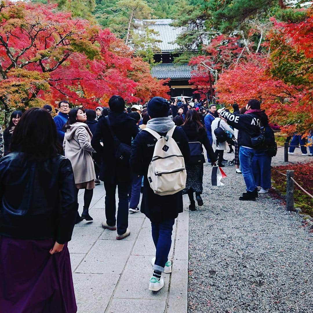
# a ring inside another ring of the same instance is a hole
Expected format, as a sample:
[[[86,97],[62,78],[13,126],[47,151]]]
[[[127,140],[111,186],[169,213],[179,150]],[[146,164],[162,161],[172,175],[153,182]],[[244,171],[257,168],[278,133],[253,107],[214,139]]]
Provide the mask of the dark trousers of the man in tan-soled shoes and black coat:
[[[116,205],[115,190],[116,184],[105,183],[105,217],[106,223],[110,226],[115,225]],[[122,235],[126,233],[128,227],[128,192],[130,184],[128,182],[119,182],[117,184],[118,208],[117,208],[117,233]]]

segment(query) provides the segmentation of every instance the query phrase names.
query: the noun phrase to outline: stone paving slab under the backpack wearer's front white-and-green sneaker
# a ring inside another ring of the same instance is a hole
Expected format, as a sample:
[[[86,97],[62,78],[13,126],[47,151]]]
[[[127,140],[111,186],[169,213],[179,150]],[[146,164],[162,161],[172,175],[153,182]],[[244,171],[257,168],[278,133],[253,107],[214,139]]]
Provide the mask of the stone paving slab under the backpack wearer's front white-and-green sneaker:
[[[169,274],[162,274],[164,287],[158,292],[148,290],[149,280],[152,275],[151,259],[153,255],[136,256],[131,255],[126,268],[121,276],[115,295],[116,298],[166,300]],[[136,311],[135,311],[136,312]]]

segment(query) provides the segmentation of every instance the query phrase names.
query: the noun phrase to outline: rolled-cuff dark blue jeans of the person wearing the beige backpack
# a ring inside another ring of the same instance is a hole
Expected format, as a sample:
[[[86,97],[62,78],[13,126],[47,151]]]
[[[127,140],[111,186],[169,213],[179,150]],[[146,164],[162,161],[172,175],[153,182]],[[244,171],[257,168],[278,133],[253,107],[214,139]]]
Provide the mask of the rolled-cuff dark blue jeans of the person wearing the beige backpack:
[[[175,219],[168,219],[161,223],[151,222],[152,239],[156,247],[156,261],[153,269],[163,272],[172,245],[172,231]]]

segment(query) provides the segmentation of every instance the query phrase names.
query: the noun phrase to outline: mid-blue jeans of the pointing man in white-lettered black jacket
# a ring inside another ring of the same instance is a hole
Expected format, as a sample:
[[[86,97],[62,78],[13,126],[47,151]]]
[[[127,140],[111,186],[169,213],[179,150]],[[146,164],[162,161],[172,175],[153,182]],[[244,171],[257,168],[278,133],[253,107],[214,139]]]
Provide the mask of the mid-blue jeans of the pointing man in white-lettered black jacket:
[[[254,182],[252,173],[252,159],[256,153],[255,149],[248,149],[240,146],[239,149],[239,162],[244,182],[246,183],[247,191],[254,191],[257,187]]]

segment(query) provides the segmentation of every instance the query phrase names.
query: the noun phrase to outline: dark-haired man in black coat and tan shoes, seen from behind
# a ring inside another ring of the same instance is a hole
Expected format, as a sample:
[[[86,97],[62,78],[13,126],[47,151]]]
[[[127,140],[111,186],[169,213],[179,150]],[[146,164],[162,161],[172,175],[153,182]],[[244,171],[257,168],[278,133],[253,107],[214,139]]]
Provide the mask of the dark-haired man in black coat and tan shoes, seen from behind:
[[[105,187],[105,217],[102,227],[116,230],[115,219],[115,190],[118,188],[118,212],[117,212],[117,236],[123,239],[130,235],[128,227],[128,192],[131,187],[131,170],[128,162],[121,162],[115,157],[116,141],[112,137],[115,134],[118,141],[131,146],[131,138],[135,138],[138,127],[134,119],[125,112],[125,101],[122,97],[114,95],[109,100],[110,113],[98,121],[96,132],[91,140],[91,145],[102,156],[99,178]],[[100,144],[102,140],[103,146]]]

